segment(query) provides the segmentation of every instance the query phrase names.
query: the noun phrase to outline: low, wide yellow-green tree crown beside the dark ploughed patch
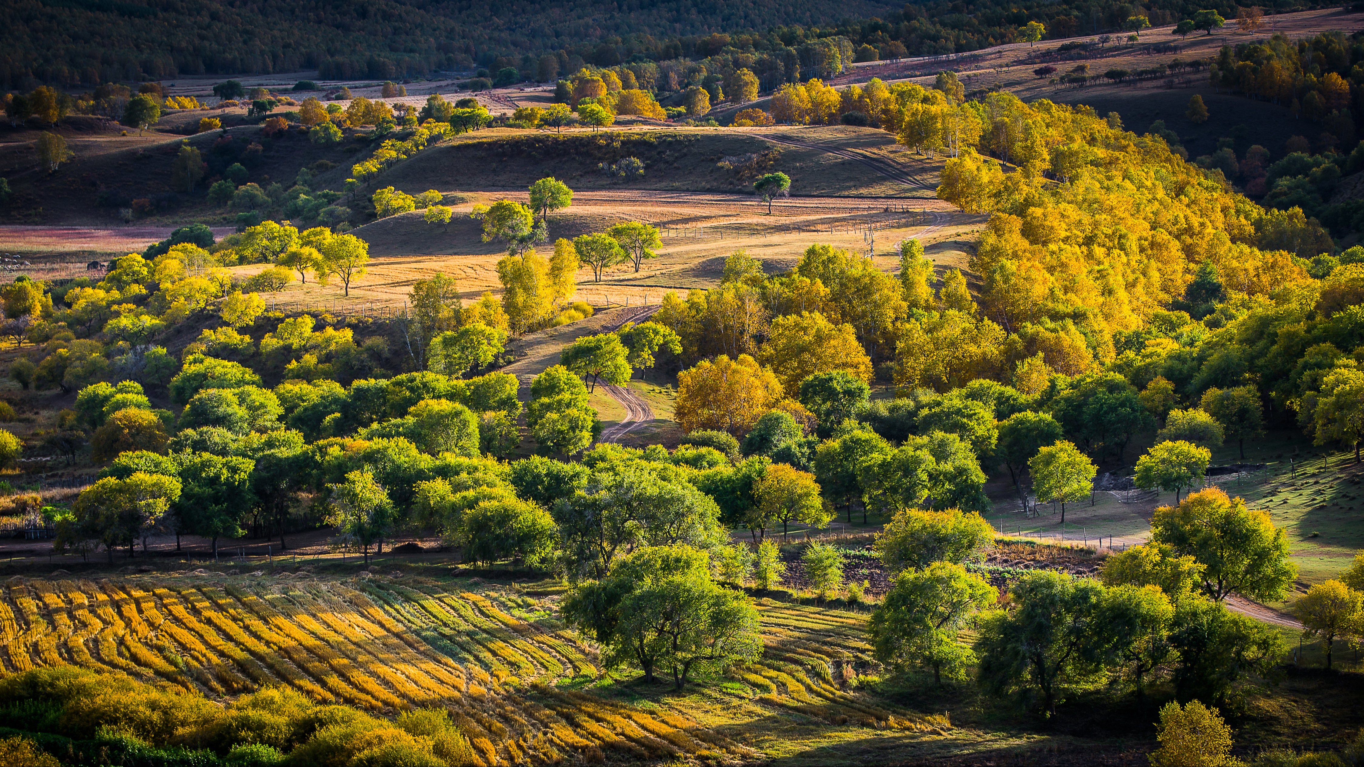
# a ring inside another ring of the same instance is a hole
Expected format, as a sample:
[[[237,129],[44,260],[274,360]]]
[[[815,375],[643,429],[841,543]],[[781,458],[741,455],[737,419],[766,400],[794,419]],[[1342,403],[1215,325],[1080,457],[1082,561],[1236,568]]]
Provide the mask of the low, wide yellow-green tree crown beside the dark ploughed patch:
[[[906,508],[895,514],[876,537],[876,553],[887,569],[928,569],[934,563],[985,561],[994,545],[994,529],[979,514],[960,510]]]

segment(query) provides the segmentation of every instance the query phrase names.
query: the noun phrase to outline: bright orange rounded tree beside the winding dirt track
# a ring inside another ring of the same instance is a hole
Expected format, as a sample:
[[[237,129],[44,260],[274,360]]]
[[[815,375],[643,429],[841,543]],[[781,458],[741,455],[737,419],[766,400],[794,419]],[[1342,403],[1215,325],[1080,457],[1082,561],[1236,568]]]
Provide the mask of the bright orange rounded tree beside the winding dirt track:
[[[747,354],[730,360],[720,354],[678,373],[674,417],[682,431],[726,431],[743,436],[784,391],[776,375]]]

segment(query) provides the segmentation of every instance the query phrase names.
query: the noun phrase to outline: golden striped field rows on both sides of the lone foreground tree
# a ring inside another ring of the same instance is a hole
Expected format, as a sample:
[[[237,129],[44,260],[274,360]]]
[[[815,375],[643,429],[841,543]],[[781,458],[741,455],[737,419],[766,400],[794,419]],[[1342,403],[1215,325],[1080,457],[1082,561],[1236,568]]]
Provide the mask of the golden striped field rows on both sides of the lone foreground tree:
[[[756,756],[679,710],[573,689],[600,677],[595,653],[527,597],[303,574],[14,578],[0,593],[5,672],[71,663],[213,698],[274,684],[375,711],[439,706],[486,764]],[[757,704],[832,725],[945,725],[844,689],[868,665],[859,616],[769,601],[760,610],[767,653],[731,674]]]

